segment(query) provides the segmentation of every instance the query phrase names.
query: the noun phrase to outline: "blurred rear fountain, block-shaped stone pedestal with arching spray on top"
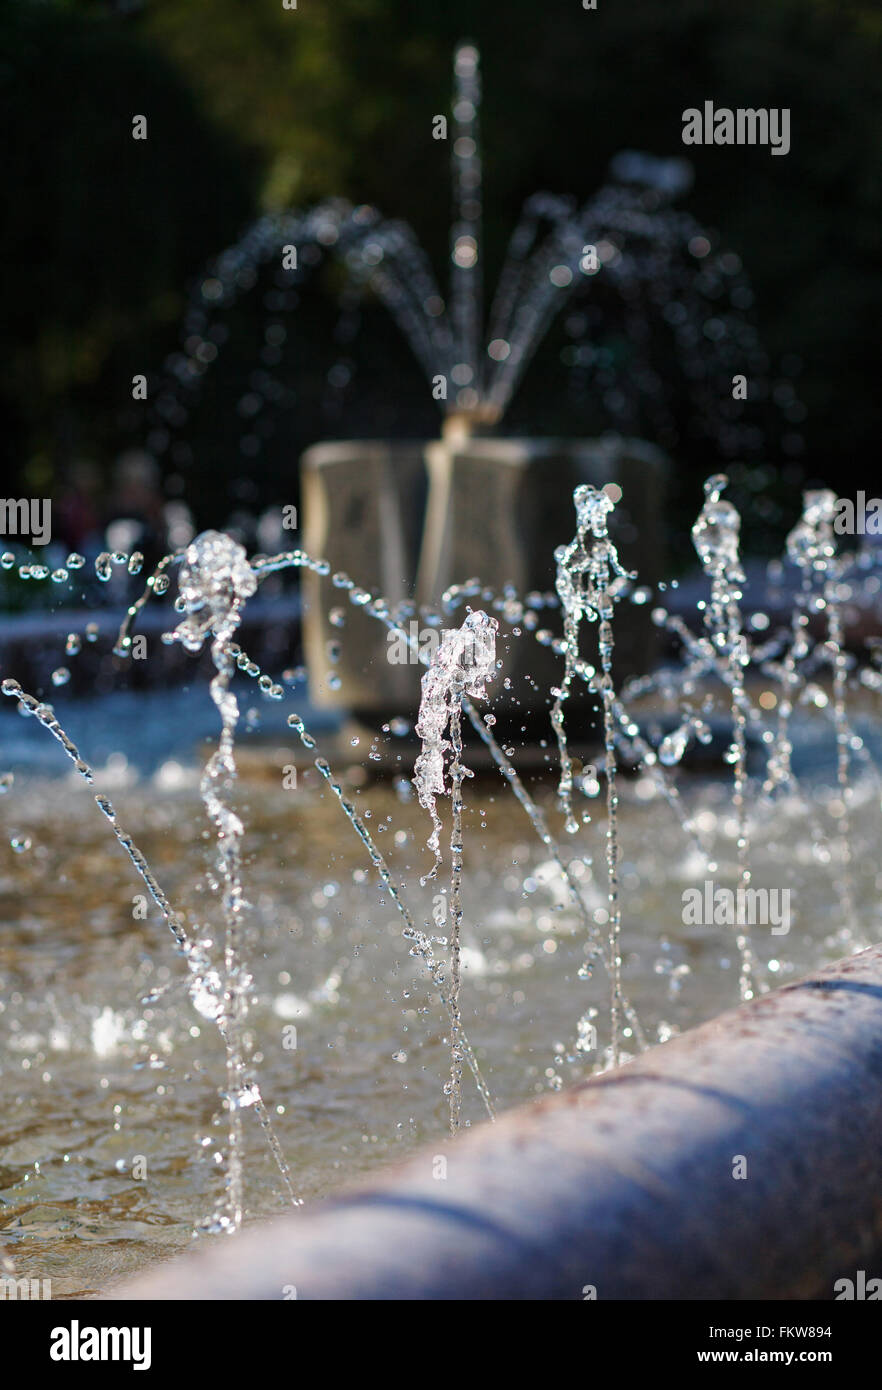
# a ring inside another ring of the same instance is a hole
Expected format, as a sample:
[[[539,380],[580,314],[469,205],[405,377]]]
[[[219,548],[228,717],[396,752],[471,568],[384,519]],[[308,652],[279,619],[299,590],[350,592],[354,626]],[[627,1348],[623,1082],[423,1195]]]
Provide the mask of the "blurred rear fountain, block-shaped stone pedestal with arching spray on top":
[[[413,229],[376,208],[329,200],[307,213],[263,217],[200,277],[150,435],[154,450],[174,449],[206,374],[222,357],[233,306],[242,295],[263,292],[269,306],[265,346],[239,400],[242,449],[260,461],[256,421],[290,392],[281,366],[293,331],[286,324],[296,325],[299,293],[321,265],[340,264],[346,286],[338,338],[353,336],[357,304],[376,296],[417,357],[443,428],[431,441],[311,446],[301,461],[303,541],[390,603],[411,602],[417,620],[422,609],[438,607],[451,584],[475,574],[519,594],[553,591],[544,538],[564,534],[568,499],[579,484],[621,488],[614,524],[624,563],[635,567],[639,557],[644,582],[663,578],[656,518],[667,460],[646,436],[676,446],[667,404],[669,363],[688,392],[690,428],[722,457],[750,457],[763,442],[753,406],[733,398],[733,379],[747,373],[751,402],[769,389],[769,361],[747,317],[753,295],[740,260],[715,247],[675,206],[690,181],[683,160],[624,152],[613,161],[611,182],[583,206],[533,195],[485,316],[479,108],[479,57],[465,43],[454,57],[447,299]],[[567,346],[560,352],[571,395],[601,400],[613,428],[589,439],[504,436],[499,431],[513,396],[564,311]],[[607,320],[618,327],[613,336],[601,331]],[[344,356],[328,374],[338,413],[351,373]],[[303,592],[315,702],[354,709],[375,723],[406,695],[413,701],[407,673],[385,659],[382,635],[357,616],[344,649],[329,662],[336,634],[314,577],[304,575]],[[619,632],[619,670],[644,669],[653,641],[647,614],[635,609]],[[531,670],[542,688],[553,677],[543,653],[532,657]]]

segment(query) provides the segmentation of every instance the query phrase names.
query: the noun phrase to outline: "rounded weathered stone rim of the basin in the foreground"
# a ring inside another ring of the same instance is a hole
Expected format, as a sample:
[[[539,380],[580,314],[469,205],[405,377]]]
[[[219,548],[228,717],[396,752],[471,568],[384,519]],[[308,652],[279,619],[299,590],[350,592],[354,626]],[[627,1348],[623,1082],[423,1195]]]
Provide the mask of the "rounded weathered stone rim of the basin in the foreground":
[[[111,1297],[831,1298],[879,1250],[872,947]]]

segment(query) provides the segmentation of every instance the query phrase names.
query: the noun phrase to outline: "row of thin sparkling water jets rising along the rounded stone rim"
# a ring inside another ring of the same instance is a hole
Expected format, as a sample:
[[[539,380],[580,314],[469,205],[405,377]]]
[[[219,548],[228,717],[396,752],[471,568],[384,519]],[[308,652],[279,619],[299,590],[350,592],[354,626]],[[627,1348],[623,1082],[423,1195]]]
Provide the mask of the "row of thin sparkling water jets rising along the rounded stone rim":
[[[478,1068],[474,1049],[463,1030],[460,1006],[463,962],[463,783],[471,776],[463,760],[463,712],[465,712],[471,726],[490,752],[493,763],[529,817],[539,841],[547,852],[549,862],[560,873],[564,897],[571,901],[582,923],[586,951],[583,969],[586,977],[590,977],[590,963],[594,958],[603,959],[610,973],[611,1044],[608,1061],[613,1065],[624,1061],[626,1055],[624,1042],[626,1038],[632,1037],[638,1045],[646,1045],[646,1036],[622,990],[622,919],[619,910],[617,819],[619,759],[622,755],[639,759],[647,780],[658,790],[660,795],[664,794],[671,809],[678,812],[676,820],[682,824],[688,842],[701,851],[703,863],[710,870],[711,859],[708,851],[704,848],[707,840],[707,813],[690,816],[681,806],[676,787],[671,781],[692,738],[694,737],[699,742],[703,742],[710,737],[706,723],[706,701],[701,702],[700,710],[696,710],[693,703],[700,678],[713,677],[722,682],[732,720],[733,733],[728,760],[733,769],[732,808],[736,813],[738,885],[739,890],[744,890],[751,876],[749,795],[753,784],[747,767],[747,733],[750,730],[758,731],[761,734],[761,746],[768,751],[763,787],[781,790],[783,777],[781,770],[786,769],[786,785],[794,796],[800,788],[800,780],[790,759],[793,746],[793,710],[800,695],[808,699],[813,696],[813,691],[817,689],[815,684],[810,680],[815,667],[831,670],[832,701],[829,702],[829,714],[825,717],[829,717],[832,721],[836,745],[836,794],[839,806],[833,808],[831,803],[831,815],[836,819],[836,863],[842,873],[840,902],[843,905],[846,903],[846,894],[851,892],[849,880],[854,870],[851,851],[854,823],[850,813],[854,794],[853,763],[857,756],[867,763],[869,756],[854,731],[853,717],[849,710],[849,692],[854,681],[853,663],[844,649],[843,637],[843,603],[846,594],[854,592],[857,582],[853,577],[856,562],[853,557],[836,553],[831,525],[831,499],[833,495],[808,493],[806,496],[803,520],[792,532],[789,542],[789,556],[801,581],[790,631],[781,637],[771,635],[764,638],[761,644],[753,645],[744,630],[740,607],[742,587],[744,582],[739,553],[740,517],[735,507],[724,500],[724,488],[725,478],[722,475],[708,480],[704,506],[694,527],[696,552],[710,581],[710,602],[700,605],[700,631],[694,634],[678,616],[664,609],[657,610],[657,621],[675,634],[683,646],[686,660],[682,670],[667,669],[650,677],[640,677],[629,682],[622,692],[617,692],[614,688],[613,662],[615,648],[613,614],[615,603],[626,596],[631,596],[633,602],[643,603],[646,595],[631,589],[632,577],[628,575],[618,562],[615,546],[610,539],[608,523],[611,518],[614,520],[615,502],[615,493],[611,489],[597,492],[590,488],[582,488],[576,491],[574,498],[576,505],[576,537],[569,545],[561,546],[556,552],[558,564],[557,594],[564,623],[564,637],[561,639],[551,638],[554,649],[564,660],[564,677],[561,685],[554,691],[553,705],[553,727],[557,734],[560,755],[558,803],[564,810],[568,830],[571,820],[576,821],[576,831],[579,830],[579,824],[589,824],[588,817],[576,817],[574,798],[576,788],[581,788],[589,796],[596,795],[597,788],[594,785],[592,791],[588,791],[582,785],[585,777],[574,776],[564,719],[569,689],[575,681],[582,681],[599,696],[603,712],[603,776],[606,776],[607,781],[607,908],[603,917],[596,916],[596,910],[593,906],[589,906],[585,898],[585,885],[590,881],[590,856],[582,855],[581,858],[569,859],[569,856],[561,855],[543,812],[526,791],[522,778],[513,766],[510,753],[500,748],[493,737],[490,723],[481,717],[472,703],[472,701],[492,696],[492,691],[488,691],[488,682],[496,676],[500,664],[497,660],[500,624],[504,623],[513,634],[532,635],[533,639],[547,645],[549,639],[544,630],[536,621],[532,624],[528,621],[531,613],[535,617],[535,599],[529,602],[521,600],[513,591],[506,591],[499,598],[494,598],[490,591],[485,591],[479,584],[476,587],[471,584],[458,587],[457,592],[451,591],[447,595],[449,610],[456,606],[460,598],[467,596],[468,592],[481,592],[490,612],[467,613],[461,628],[444,631],[435,656],[432,659],[428,656],[424,657],[428,662],[428,670],[422,677],[422,702],[419,720],[415,727],[421,748],[414,767],[414,783],[419,802],[432,819],[429,848],[435,856],[435,865],[431,873],[422,880],[424,883],[436,876],[438,867],[443,862],[440,849],[442,821],[438,812],[438,798],[442,795],[450,795],[451,798],[451,878],[447,895],[450,935],[443,942],[450,948],[447,962],[436,959],[435,942],[426,931],[421,930],[417,917],[406,902],[406,884],[396,883],[389,862],[378,849],[378,840],[368,828],[365,819],[369,816],[369,812],[360,812],[347,798],[342,783],[332,773],[326,759],[319,756],[314,759],[321,778],[324,778],[325,785],[332,791],[347,821],[353,826],[353,830],[367,849],[371,865],[404,922],[404,935],[410,944],[411,954],[426,969],[429,980],[438,990],[447,1013],[451,1065],[450,1080],[444,1090],[449,1099],[451,1130],[456,1130],[461,1123],[461,1080],[464,1065],[468,1065],[475,1077],[488,1113],[490,1116],[493,1113],[489,1090]],[[111,564],[122,569],[125,559],[122,556],[122,560],[117,560],[111,556]],[[106,567],[107,562],[103,557],[100,560]],[[144,855],[128,831],[119,824],[108,798],[99,794],[96,802],[136,873],[147,885],[153,901],[160,906],[175,935],[178,948],[186,958],[190,976],[190,995],[197,1011],[203,1017],[213,1019],[224,1037],[226,1047],[225,1108],[229,1127],[225,1168],[226,1190],[222,1211],[215,1213],[213,1222],[204,1223],[203,1229],[231,1230],[242,1220],[243,1211],[242,1109],[253,1106],[260,1115],[267,1141],[276,1155],[279,1170],[283,1175],[288,1172],[285,1159],[281,1156],[281,1150],[276,1152],[278,1145],[274,1147],[275,1140],[251,1066],[250,1042],[244,1026],[254,986],[244,954],[249,940],[249,905],[244,898],[242,866],[244,826],[233,809],[232,801],[236,778],[235,741],[239,706],[231,689],[231,682],[236,673],[242,673],[244,677],[254,680],[268,699],[282,699],[285,691],[278,681],[274,681],[271,676],[260,670],[257,663],[249,657],[233,638],[242,621],[243,607],[247,599],[256,594],[264,575],[285,569],[310,569],[314,573],[328,575],[329,566],[326,562],[314,559],[303,550],[283,552],[275,556],[257,556],[249,560],[243,546],[238,545],[232,538],[221,532],[206,532],[197,537],[185,552],[167,556],[154,574],[149,577],[142,599],[128,610],[117,649],[121,645],[125,648],[125,637],[131,637],[132,624],[147,598],[150,595],[161,598],[167,592],[168,582],[157,585],[156,577],[168,578],[168,570],[174,564],[179,566],[179,598],[176,607],[182,614],[182,620],[169,637],[193,653],[210,645],[215,667],[211,681],[211,698],[221,719],[221,734],[201,778],[201,795],[206,812],[217,834],[218,876],[215,888],[225,929],[224,948],[219,956],[213,956],[211,940],[206,941],[201,935],[201,929],[194,931],[183,915],[172,906]],[[126,569],[129,567],[126,566]],[[47,577],[51,578],[51,575]],[[846,585],[846,578],[849,578],[850,588]],[[354,606],[363,609],[390,631],[403,632],[408,644],[413,641],[406,632],[406,620],[400,619],[399,614],[393,614],[379,596],[371,595],[346,575],[335,575],[332,582],[335,591],[346,594]],[[817,613],[824,614],[825,628],[821,641],[814,642],[808,620]],[[586,623],[590,626],[590,630],[596,630],[597,656],[594,657],[594,664],[589,664],[579,652]],[[76,634],[71,635],[75,637]],[[75,657],[78,655],[76,642],[71,642],[71,635],[68,635],[67,649],[68,656]],[[747,674],[750,670],[758,671],[763,676],[774,674],[779,682],[778,688],[782,696],[786,694],[789,703],[782,698],[774,717],[765,713],[769,706],[764,705],[758,708],[753,703],[747,687]],[[861,673],[861,677],[864,674],[867,673]],[[869,671],[868,674],[872,676],[874,673]],[[872,681],[861,680],[861,684],[869,692],[878,689]],[[642,724],[640,716],[635,714],[632,709],[632,702],[639,695],[651,689],[661,691],[676,699],[679,708],[675,728],[661,739],[657,753],[651,748],[650,737]],[[3,681],[3,692],[15,698],[22,713],[33,716],[63,746],[79,776],[86,783],[93,783],[94,774],[92,769],[82,759],[76,745],[61,728],[51,706],[26,695],[13,678]],[[818,709],[824,709],[819,701],[814,701],[814,703]],[[289,723],[296,728],[304,748],[315,748],[315,741],[307,733],[299,716],[292,716]],[[597,781],[597,778],[594,780]],[[11,774],[4,774],[3,790],[10,791],[11,787]],[[803,798],[803,803],[811,809],[810,799]],[[760,812],[761,802],[757,801],[756,815],[760,815]],[[13,838],[21,844],[31,844],[31,837],[24,835],[18,828]],[[19,858],[22,866],[25,866],[29,856],[22,853]],[[578,870],[582,872],[579,873]],[[854,895],[851,894],[851,898],[847,901],[851,902],[851,908],[846,909],[846,919],[849,930],[854,935],[853,920],[857,916]],[[601,920],[607,927],[606,942],[599,930],[599,922]],[[739,933],[739,937],[742,956],[739,992],[742,997],[749,997],[753,990],[757,987],[761,988],[763,984],[757,980],[757,963],[751,944],[743,938],[743,934]],[[840,937],[840,940],[844,938]],[[776,962],[772,963],[775,965]],[[685,967],[665,965],[665,977],[669,979],[671,988],[674,988],[678,979],[682,979],[682,969]],[[576,1023],[576,1041],[572,1048],[572,1056],[582,1063],[593,1049],[593,1024],[590,1022],[593,1017],[594,1011],[588,1009]],[[549,1084],[556,1084],[556,1081],[550,1079]],[[290,1195],[293,1197],[293,1193]]]

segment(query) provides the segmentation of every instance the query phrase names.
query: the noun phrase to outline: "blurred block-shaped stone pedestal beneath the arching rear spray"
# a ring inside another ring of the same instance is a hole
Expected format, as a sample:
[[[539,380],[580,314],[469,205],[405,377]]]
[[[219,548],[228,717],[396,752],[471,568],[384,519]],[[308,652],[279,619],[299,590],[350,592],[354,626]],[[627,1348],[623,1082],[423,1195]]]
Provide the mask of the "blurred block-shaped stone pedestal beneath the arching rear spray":
[[[651,584],[663,573],[663,503],[667,460],[638,439],[500,439],[449,436],[431,442],[319,443],[301,460],[303,543],[356,584],[438,606],[444,589],[481,578],[496,594],[513,585],[522,598],[554,592],[554,548],[575,532],[572,491],[581,482],[615,482],[622,499],[611,537],[622,563]],[[422,667],[396,663],[386,628],[351,605],[329,580],[303,575],[304,649],[310,696],[367,721],[413,716]],[[475,596],[472,607],[488,607]],[[615,620],[617,676],[646,670],[656,651],[649,609],[622,603]],[[344,626],[332,624],[343,609]],[[465,607],[444,626],[458,627]],[[539,627],[560,632],[560,613],[539,610]],[[414,631],[428,631],[417,616]],[[563,662],[524,631],[499,651],[511,688],[493,691],[493,708],[511,716],[547,712],[549,685]],[[399,645],[400,653],[400,645]],[[588,660],[590,660],[588,655]],[[532,678],[532,680],[531,680]]]

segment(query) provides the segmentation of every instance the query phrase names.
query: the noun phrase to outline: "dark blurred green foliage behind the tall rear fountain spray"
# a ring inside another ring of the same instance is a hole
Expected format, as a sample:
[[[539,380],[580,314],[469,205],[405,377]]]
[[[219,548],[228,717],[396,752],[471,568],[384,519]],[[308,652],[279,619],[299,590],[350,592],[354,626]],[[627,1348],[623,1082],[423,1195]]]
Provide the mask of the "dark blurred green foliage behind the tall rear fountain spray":
[[[599,0],[596,11],[579,0],[299,0],[294,11],[282,0],[7,0],[1,391],[14,471],[49,486],[78,457],[107,467],[139,442],[132,374],[158,368],[188,281],[261,208],[335,193],[371,202],[413,222],[443,284],[449,152],[431,120],[449,110],[463,38],[482,50],[490,285],[536,189],[586,197],[622,147],[682,154],[681,113],[706,99],[792,108],[786,158],[690,149],[688,206],[742,256],[771,353],[803,360],[807,475],[857,478],[879,428],[878,0]],[[131,139],[135,113],[150,120],[144,143]],[[247,322],[240,332],[247,341]],[[315,322],[307,314],[306,357],[322,334],[318,310]],[[397,353],[397,407],[356,403],[338,432],[432,428],[393,339],[376,328],[372,356]],[[390,395],[389,373],[367,381]],[[211,386],[215,406],[225,389],[222,377]],[[286,448],[269,453],[276,470],[326,432],[319,395],[304,385]],[[243,468],[229,432],[203,427],[210,461],[190,502],[207,523],[222,520]],[[278,495],[276,481],[251,491]]]

